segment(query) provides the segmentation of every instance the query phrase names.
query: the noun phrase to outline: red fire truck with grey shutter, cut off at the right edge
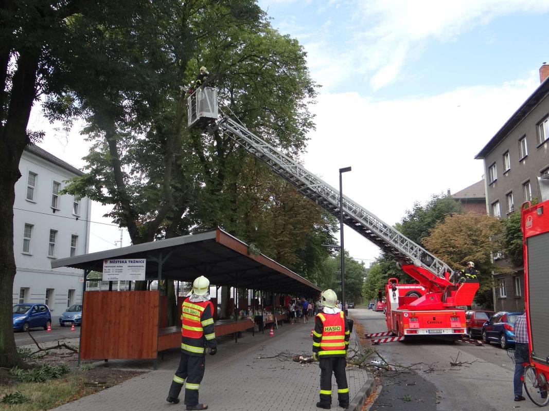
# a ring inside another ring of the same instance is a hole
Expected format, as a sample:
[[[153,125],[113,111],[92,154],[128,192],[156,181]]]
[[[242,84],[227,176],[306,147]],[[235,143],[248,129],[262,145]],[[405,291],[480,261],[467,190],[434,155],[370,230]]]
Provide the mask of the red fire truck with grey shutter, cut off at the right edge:
[[[541,197],[545,199],[549,198],[547,177],[540,179]],[[530,399],[541,407],[549,403],[549,200],[535,206],[526,202],[521,212],[530,352],[524,387]]]

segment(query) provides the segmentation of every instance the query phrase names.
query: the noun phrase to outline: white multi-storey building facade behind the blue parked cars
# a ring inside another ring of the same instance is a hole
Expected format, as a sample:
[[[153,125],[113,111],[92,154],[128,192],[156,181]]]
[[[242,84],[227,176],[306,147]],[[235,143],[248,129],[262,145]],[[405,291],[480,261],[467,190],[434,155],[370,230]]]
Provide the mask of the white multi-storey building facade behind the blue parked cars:
[[[13,209],[13,304],[45,303],[55,324],[68,306],[82,302],[83,272],[53,270],[51,261],[88,252],[91,201],[59,193],[66,180],[83,173],[40,147],[25,149],[19,171]]]

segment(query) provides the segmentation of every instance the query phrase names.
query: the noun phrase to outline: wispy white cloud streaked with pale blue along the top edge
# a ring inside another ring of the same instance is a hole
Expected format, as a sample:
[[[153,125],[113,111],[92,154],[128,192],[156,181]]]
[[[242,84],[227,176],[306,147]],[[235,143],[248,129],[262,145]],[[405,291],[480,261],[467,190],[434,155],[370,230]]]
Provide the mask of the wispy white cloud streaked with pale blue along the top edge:
[[[549,1],[357,0],[356,7],[363,24],[368,24],[355,34],[357,65],[372,75],[372,88],[379,89],[393,82],[405,62],[421,53],[423,42],[453,41],[498,16],[547,12]]]

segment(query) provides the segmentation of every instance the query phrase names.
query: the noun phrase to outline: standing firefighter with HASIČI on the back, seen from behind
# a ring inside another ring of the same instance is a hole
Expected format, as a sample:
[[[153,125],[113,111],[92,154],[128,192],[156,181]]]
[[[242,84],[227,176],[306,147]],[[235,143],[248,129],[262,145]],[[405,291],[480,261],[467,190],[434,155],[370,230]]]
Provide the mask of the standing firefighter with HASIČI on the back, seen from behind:
[[[318,408],[330,409],[332,404],[332,372],[338,384],[338,402],[342,408],[349,407],[349,386],[345,375],[349,328],[343,311],[335,305],[337,295],[333,290],[322,293],[322,312],[315,317],[312,355],[320,364],[320,401]]]

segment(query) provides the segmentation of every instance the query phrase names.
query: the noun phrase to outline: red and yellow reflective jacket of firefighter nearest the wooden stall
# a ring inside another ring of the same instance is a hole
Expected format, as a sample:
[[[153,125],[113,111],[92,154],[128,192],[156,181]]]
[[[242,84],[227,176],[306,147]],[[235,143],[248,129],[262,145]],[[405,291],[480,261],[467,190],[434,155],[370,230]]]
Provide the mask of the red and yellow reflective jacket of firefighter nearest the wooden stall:
[[[188,298],[181,307],[181,350],[191,356],[203,356],[206,345],[216,347],[214,305],[211,301],[191,302]]]

